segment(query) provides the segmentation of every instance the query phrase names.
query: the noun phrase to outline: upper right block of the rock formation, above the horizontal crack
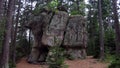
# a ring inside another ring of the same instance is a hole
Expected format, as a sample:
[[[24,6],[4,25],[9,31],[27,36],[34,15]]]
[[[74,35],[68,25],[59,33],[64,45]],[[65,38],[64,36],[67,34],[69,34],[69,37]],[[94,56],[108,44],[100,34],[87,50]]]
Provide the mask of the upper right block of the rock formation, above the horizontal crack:
[[[86,21],[83,16],[70,16],[63,46],[86,47]]]

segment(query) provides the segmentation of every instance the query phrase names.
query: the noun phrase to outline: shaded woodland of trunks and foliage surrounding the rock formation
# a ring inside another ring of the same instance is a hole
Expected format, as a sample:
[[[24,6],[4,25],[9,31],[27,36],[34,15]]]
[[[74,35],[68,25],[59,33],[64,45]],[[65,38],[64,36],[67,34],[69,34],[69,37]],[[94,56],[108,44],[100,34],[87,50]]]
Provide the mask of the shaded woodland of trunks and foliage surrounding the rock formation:
[[[57,11],[61,5],[70,15],[87,19],[87,55],[120,67],[119,0],[0,0],[0,68],[13,68],[17,60],[29,55],[33,36],[25,25],[33,15],[42,7]]]

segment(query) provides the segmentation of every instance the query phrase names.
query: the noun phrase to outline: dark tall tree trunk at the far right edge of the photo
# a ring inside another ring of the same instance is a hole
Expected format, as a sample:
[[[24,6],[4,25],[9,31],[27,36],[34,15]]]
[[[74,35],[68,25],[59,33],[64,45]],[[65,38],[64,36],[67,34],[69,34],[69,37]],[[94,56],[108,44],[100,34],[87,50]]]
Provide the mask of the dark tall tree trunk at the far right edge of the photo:
[[[117,13],[117,0],[113,1],[113,13],[114,13],[114,26],[115,26],[115,34],[116,34],[116,54],[120,54],[120,25],[118,20],[118,13]]]

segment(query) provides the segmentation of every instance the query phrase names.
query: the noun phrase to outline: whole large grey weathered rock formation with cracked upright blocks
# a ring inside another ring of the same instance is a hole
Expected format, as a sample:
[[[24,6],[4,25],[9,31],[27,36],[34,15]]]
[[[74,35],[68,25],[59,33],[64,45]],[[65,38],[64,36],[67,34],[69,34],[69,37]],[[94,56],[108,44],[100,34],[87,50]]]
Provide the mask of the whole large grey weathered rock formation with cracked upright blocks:
[[[34,36],[29,62],[45,61],[48,47],[62,46],[68,55],[74,58],[85,58],[87,32],[85,19],[69,16],[67,12],[41,12],[26,27]]]

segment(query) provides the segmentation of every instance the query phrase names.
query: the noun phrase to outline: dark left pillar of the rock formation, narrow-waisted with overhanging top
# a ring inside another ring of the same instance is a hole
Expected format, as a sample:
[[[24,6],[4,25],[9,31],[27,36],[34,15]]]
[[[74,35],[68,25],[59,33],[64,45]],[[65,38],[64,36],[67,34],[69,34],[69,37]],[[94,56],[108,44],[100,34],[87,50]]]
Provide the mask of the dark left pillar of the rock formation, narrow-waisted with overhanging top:
[[[31,54],[28,58],[28,62],[36,63],[38,61],[45,61],[48,53],[47,46],[43,46],[41,43],[43,30],[45,25],[49,23],[52,17],[52,13],[41,13],[39,16],[35,16],[33,20],[27,25],[31,29],[34,36],[34,43],[32,46]]]

